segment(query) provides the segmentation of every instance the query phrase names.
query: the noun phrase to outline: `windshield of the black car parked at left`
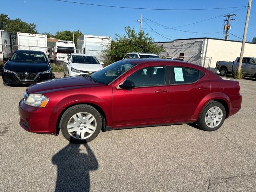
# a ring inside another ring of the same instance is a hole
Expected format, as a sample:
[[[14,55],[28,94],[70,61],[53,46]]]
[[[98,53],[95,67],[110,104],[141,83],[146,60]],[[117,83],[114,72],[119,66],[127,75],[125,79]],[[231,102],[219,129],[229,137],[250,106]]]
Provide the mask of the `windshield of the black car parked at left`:
[[[47,59],[46,56],[40,52],[15,52],[11,56],[10,61],[45,63]]]

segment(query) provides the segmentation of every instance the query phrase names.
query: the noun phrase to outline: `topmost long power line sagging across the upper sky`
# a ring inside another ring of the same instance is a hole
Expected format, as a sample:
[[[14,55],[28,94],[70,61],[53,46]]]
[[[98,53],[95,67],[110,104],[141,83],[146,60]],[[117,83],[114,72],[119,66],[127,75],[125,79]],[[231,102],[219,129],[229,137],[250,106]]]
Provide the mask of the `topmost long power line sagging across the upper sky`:
[[[101,6],[101,7],[111,7],[111,8],[143,9],[143,10],[166,10],[166,11],[214,10],[214,9],[231,9],[231,8],[245,8],[245,7],[247,7],[247,6],[239,6],[239,7],[220,7],[220,8],[201,8],[201,9],[162,9],[162,8],[158,9],[158,8],[110,6],[110,5],[81,3],[81,2],[66,1],[66,0],[55,0],[55,1],[67,2],[67,3],[76,3],[76,4],[84,4],[84,5],[92,5],[92,6]]]

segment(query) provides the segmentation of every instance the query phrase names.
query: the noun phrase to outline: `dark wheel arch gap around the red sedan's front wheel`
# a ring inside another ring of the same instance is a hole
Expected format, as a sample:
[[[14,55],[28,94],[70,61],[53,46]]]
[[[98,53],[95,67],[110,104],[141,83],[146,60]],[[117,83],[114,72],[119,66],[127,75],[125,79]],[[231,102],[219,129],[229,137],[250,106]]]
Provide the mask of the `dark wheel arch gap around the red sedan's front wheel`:
[[[90,102],[79,102],[79,103],[74,103],[74,104],[70,104],[70,105],[66,106],[64,108],[64,110],[62,110],[62,112],[59,114],[57,122],[56,122],[56,135],[58,135],[60,132],[60,120],[61,120],[64,112],[66,110],[68,110],[70,107],[76,106],[76,105],[90,105],[90,106],[94,107],[100,113],[100,116],[102,118],[102,132],[105,132],[107,118],[106,118],[106,113],[104,112],[104,110],[100,106],[90,103]]]

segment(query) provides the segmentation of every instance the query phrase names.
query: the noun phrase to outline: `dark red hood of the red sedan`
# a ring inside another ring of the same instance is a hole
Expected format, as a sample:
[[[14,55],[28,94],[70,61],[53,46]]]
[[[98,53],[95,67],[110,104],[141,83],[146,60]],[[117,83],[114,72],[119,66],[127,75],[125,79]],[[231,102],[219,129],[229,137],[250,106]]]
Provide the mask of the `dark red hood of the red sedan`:
[[[104,84],[99,84],[87,80],[83,76],[71,76],[56,78],[52,80],[43,81],[28,87],[29,93],[40,93],[40,92],[54,92],[66,89],[76,89],[85,87],[95,87],[95,86],[105,86]]]

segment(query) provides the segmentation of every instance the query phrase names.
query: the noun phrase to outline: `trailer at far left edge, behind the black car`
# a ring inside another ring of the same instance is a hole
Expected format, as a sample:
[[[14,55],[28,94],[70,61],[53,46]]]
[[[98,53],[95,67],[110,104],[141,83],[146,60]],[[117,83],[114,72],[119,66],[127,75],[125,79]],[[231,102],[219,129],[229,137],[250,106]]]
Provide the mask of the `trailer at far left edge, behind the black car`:
[[[0,60],[9,58],[17,50],[17,35],[0,30]]]

